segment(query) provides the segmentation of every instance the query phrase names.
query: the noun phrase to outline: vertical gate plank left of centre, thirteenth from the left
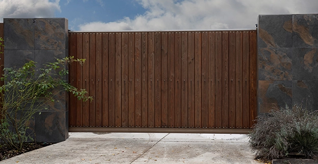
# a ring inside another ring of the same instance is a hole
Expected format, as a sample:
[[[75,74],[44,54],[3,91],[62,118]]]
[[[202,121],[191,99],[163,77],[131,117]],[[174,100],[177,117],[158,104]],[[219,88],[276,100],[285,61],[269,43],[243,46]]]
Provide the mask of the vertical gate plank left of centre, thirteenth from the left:
[[[148,127],[154,126],[154,33],[148,33]]]

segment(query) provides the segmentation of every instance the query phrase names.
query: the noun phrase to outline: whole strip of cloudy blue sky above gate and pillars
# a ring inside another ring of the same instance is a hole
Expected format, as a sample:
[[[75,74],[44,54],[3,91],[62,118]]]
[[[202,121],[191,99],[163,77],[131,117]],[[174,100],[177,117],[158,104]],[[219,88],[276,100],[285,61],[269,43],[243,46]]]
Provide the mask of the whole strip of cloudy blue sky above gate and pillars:
[[[318,0],[0,0],[0,22],[63,17],[71,31],[255,29],[258,15],[314,13]]]

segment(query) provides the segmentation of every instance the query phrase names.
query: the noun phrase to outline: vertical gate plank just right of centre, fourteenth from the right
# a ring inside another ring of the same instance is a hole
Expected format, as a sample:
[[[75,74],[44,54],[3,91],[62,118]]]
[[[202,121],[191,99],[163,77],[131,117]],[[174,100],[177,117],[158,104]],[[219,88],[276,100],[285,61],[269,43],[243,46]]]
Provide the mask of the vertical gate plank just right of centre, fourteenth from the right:
[[[168,33],[161,33],[161,127],[168,126]]]

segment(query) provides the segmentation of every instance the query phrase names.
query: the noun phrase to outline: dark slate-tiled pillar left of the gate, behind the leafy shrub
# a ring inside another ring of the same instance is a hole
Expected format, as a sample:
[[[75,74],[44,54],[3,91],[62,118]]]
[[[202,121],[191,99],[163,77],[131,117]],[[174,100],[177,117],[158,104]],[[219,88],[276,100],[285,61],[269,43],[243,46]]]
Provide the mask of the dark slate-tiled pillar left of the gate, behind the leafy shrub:
[[[68,20],[65,18],[5,18],[5,67],[21,67],[33,60],[38,67],[68,57]],[[65,77],[66,79],[68,77]],[[57,143],[68,138],[68,95],[31,121],[37,142]]]

